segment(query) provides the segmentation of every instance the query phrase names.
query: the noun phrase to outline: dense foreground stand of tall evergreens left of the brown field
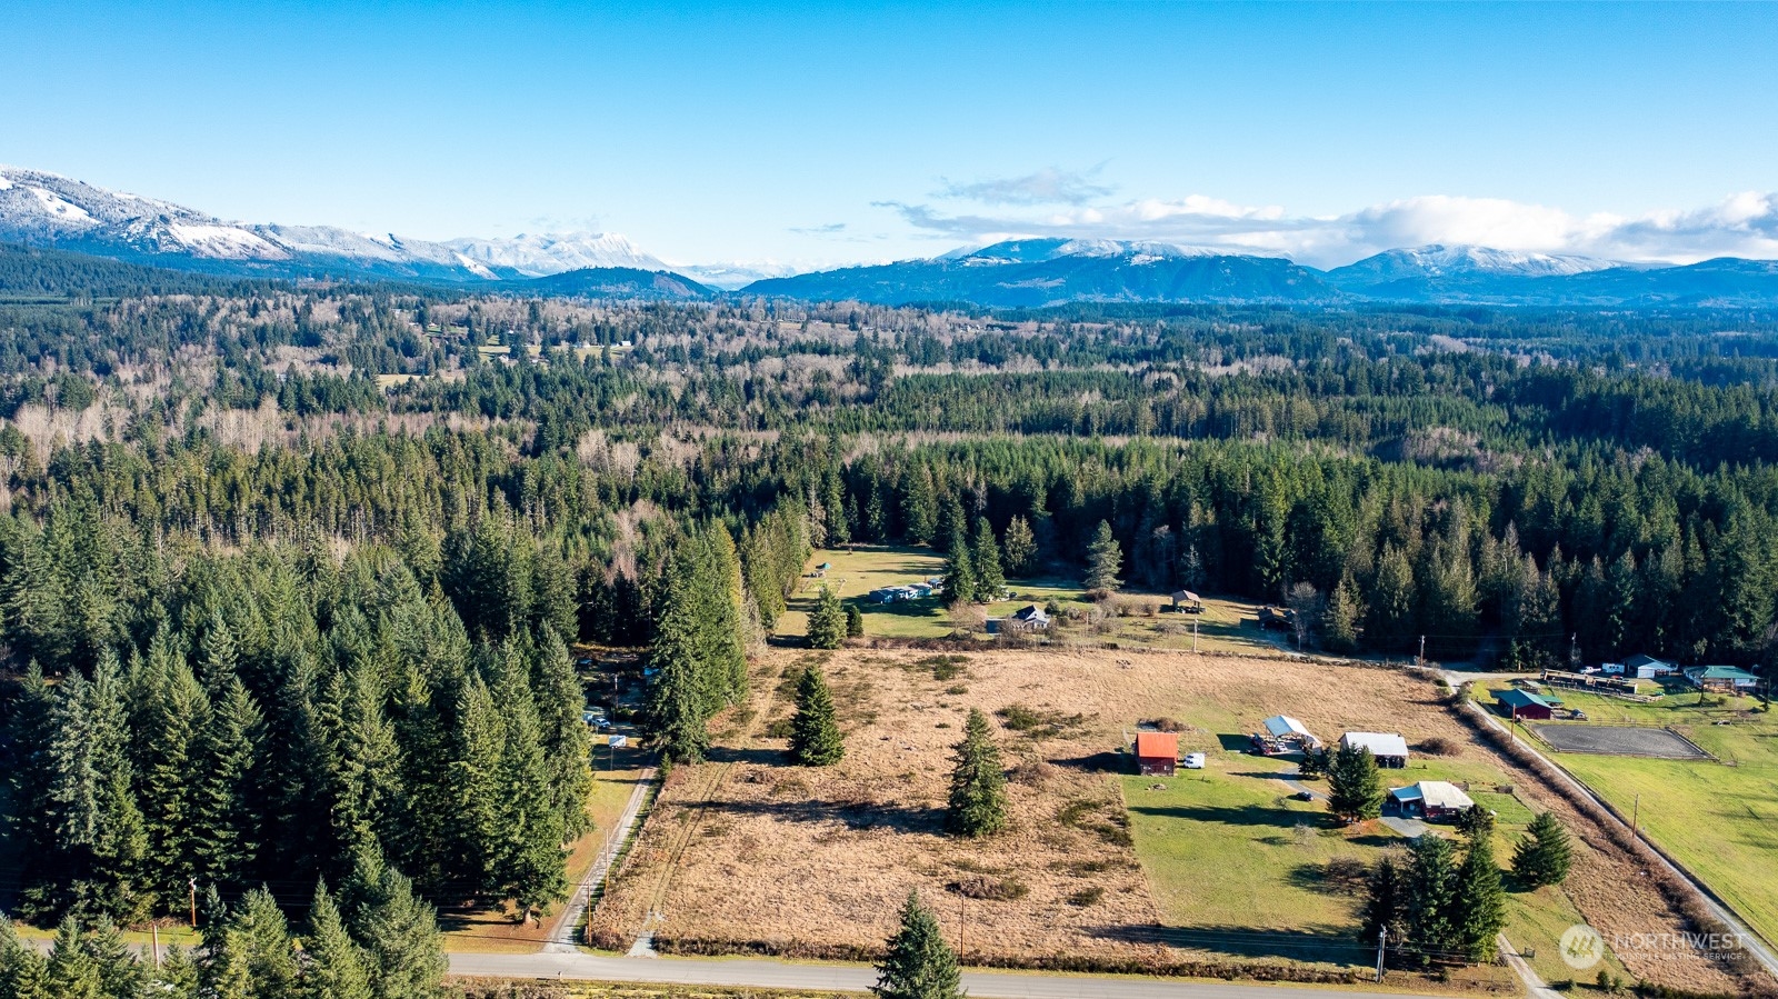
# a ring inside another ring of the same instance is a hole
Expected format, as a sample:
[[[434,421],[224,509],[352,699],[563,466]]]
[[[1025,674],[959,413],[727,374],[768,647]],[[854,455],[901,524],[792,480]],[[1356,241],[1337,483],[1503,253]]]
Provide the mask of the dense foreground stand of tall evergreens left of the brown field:
[[[192,880],[288,901],[366,853],[428,898],[564,896],[590,745],[551,620],[471,635],[380,547],[178,558],[112,553],[66,645],[28,636],[36,595],[9,578],[7,636],[41,656],[5,706],[20,914],[133,923],[183,912]]]

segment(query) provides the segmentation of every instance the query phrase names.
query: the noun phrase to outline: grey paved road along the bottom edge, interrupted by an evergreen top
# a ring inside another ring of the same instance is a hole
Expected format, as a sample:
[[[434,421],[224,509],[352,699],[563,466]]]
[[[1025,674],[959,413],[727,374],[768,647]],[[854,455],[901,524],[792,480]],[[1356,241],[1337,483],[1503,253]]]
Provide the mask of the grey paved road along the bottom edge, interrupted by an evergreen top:
[[[864,992],[877,983],[869,967],[761,960],[603,958],[576,955],[452,955],[452,974],[480,978],[560,978],[578,981],[649,981]],[[1301,992],[1289,985],[1223,985],[1156,978],[1079,978],[965,971],[976,999],[1278,999]],[[1342,999],[1415,999],[1401,992],[1341,992]]]

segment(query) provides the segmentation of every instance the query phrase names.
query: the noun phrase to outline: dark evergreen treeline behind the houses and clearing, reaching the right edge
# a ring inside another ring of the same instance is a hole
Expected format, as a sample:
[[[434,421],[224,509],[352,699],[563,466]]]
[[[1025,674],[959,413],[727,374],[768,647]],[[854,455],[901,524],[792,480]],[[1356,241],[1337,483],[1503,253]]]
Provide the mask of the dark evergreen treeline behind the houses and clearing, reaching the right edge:
[[[1467,656],[1486,635],[1536,668],[1577,636],[1586,661],[1771,661],[1773,469],[1559,457],[1476,473],[1282,444],[976,441],[850,460],[837,510],[850,539],[941,549],[978,515],[1003,542],[1017,519],[1031,558],[1065,571],[1106,521],[1141,587],[1280,601],[1309,583],[1337,651],[1424,635],[1428,654]]]

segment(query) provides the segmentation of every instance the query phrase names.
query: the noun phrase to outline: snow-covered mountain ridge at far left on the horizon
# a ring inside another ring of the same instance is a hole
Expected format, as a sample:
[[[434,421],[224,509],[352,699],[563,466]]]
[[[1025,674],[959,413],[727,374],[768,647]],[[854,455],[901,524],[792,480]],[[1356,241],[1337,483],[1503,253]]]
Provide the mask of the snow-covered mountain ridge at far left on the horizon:
[[[606,267],[667,270],[665,263],[613,233],[428,242],[336,226],[228,222],[169,201],[20,167],[0,167],[0,240],[276,276],[345,272],[500,281]]]

